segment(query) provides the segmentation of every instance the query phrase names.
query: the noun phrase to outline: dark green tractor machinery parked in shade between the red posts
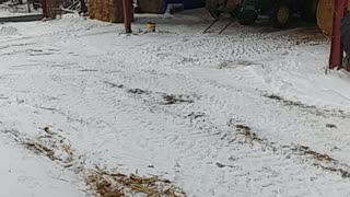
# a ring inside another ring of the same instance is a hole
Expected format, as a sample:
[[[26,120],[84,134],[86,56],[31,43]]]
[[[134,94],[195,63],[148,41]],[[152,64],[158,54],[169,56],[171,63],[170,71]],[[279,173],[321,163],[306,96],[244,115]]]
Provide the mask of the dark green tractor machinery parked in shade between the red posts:
[[[272,26],[288,25],[294,13],[314,21],[318,0],[207,0],[210,14],[218,18],[226,12],[243,25],[252,25],[259,15],[269,15]]]

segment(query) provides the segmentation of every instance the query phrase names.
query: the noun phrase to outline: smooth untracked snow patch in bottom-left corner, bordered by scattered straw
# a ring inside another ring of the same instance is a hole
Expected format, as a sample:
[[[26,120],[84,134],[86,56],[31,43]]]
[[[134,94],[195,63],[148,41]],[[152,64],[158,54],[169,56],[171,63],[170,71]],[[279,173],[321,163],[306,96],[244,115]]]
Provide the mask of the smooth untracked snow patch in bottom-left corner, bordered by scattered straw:
[[[0,167],[0,196],[79,196],[74,176],[59,171],[56,166],[35,155],[27,154],[15,144],[7,144],[1,139],[0,153],[3,157]]]

